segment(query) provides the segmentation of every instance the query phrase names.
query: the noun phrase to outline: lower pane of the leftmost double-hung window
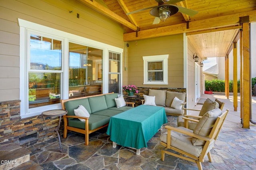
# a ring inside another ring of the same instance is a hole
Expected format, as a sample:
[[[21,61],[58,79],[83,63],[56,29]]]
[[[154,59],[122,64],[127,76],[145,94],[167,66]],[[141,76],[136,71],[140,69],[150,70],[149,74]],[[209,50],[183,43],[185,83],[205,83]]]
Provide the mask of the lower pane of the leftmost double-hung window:
[[[60,103],[60,73],[28,73],[29,108]]]

